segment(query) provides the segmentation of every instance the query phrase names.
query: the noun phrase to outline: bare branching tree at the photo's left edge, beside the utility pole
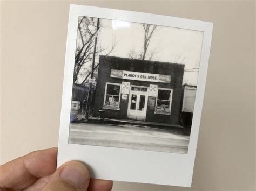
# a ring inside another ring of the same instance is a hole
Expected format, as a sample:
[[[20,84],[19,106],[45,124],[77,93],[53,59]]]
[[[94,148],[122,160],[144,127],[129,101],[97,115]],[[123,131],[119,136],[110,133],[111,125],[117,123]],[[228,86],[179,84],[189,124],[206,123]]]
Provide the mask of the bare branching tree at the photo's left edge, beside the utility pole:
[[[99,29],[97,30],[97,18],[92,17],[79,17],[78,31],[77,31],[77,45],[75,56],[75,70],[73,75],[73,82],[78,80],[78,76],[85,76],[82,83],[84,83],[90,76],[91,70],[85,69],[85,63],[91,62],[94,54],[95,37],[97,32],[103,26],[99,23]],[[112,45],[108,54],[110,54],[116,44]],[[97,45],[96,45],[97,47]],[[96,48],[95,55],[106,51],[107,48]],[[98,64],[93,68],[97,68]],[[86,73],[86,74],[84,74]],[[89,73],[89,74],[88,74]]]

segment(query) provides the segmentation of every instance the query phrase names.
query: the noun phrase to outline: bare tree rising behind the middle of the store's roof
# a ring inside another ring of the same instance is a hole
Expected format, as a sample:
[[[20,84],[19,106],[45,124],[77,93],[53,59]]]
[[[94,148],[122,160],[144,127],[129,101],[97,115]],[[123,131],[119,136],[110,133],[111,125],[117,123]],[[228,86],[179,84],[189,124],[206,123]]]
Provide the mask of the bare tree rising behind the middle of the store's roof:
[[[154,32],[156,32],[157,25],[151,25],[151,24],[142,24],[142,25],[143,25],[143,30],[144,30],[143,49],[139,54],[135,53],[132,50],[132,51],[130,51],[130,53],[128,55],[132,59],[151,60],[155,54],[157,54],[158,52],[161,51],[161,49],[157,50],[157,47],[155,47],[154,49],[151,49],[151,50],[149,49],[150,40],[151,40]]]

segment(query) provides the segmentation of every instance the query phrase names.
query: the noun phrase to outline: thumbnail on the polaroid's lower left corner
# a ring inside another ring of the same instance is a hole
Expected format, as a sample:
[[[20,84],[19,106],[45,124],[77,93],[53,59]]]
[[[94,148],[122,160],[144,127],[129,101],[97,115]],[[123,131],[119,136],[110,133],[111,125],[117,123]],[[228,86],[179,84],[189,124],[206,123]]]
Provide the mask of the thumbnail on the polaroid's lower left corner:
[[[81,189],[89,180],[89,175],[83,167],[70,165],[65,166],[62,172],[60,172],[60,178],[72,183],[73,186]]]

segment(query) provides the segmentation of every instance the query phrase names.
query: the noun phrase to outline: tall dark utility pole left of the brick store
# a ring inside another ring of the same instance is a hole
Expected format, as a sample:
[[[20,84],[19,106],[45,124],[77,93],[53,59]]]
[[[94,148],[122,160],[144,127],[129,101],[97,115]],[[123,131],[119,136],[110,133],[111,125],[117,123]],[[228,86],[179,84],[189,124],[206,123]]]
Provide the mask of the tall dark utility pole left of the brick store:
[[[98,39],[98,30],[99,30],[99,18],[97,19],[97,27],[96,27],[96,36],[95,36],[95,42],[94,42],[94,49],[93,49],[93,56],[92,56],[92,68],[91,68],[91,79],[93,79],[93,73],[94,73],[94,66],[95,66],[95,56],[96,56],[96,48],[97,48],[97,39]],[[91,89],[92,89],[92,82],[89,79],[89,90],[88,90],[88,96],[87,96],[87,103],[86,103],[86,109],[85,109],[85,118],[88,119],[89,113],[87,114],[87,111],[89,110],[89,99],[91,100]]]

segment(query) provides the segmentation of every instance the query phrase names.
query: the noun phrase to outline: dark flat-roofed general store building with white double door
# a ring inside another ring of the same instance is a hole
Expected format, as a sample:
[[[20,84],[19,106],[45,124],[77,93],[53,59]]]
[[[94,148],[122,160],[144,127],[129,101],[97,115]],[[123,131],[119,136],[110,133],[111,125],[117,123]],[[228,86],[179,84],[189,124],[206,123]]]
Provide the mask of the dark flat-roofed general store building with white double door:
[[[100,56],[93,115],[178,124],[184,66]]]

